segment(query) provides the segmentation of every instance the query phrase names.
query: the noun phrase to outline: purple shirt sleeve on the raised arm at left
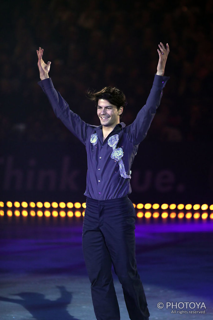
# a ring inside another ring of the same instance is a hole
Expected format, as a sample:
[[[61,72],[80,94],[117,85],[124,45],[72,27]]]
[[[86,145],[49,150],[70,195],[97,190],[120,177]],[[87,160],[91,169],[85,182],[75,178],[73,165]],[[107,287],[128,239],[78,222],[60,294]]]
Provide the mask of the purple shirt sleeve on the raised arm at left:
[[[57,118],[59,118],[67,129],[85,144],[87,139],[87,124],[81,120],[80,116],[70,110],[68,103],[54,88],[51,78],[39,81],[38,84],[47,95]]]

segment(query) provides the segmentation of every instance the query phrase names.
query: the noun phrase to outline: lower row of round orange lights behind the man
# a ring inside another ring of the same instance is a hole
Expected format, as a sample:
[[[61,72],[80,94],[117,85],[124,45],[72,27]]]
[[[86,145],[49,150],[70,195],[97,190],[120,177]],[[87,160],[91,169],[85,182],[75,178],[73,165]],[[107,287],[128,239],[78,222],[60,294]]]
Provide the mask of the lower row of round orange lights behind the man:
[[[29,213],[27,210],[22,210],[21,212],[19,210],[14,211],[14,215],[16,217],[19,217],[20,215],[22,215],[23,217],[27,217],[29,214],[32,217],[34,217],[35,215],[37,215],[38,217],[42,217],[43,215],[45,217],[50,217],[51,215],[53,217],[58,217],[58,215],[59,215],[60,217],[65,217],[65,216],[73,217],[73,216],[75,216],[78,218],[81,215],[84,217],[84,213],[85,212],[81,213],[80,211],[75,211],[74,213],[73,213],[73,211],[67,211],[67,212],[59,211],[58,212],[56,210],[53,210],[52,212],[50,212],[49,210],[45,210],[44,212],[41,210],[38,210],[37,212],[35,212],[34,210],[30,210]],[[7,216],[11,217],[13,213],[11,210],[7,210],[6,214],[7,214]],[[4,216],[4,210],[0,210],[0,216]],[[208,214],[208,212],[203,212],[202,214],[200,214],[200,212],[194,212],[194,214],[192,214],[192,212],[187,212],[186,214],[184,214],[184,212],[179,212],[178,214],[176,212],[171,212],[171,213],[162,212],[161,214],[159,212],[151,213],[149,211],[147,211],[145,213],[144,212],[137,212],[138,218],[145,217],[147,219],[149,219],[151,217],[153,217],[153,218],[161,217],[163,219],[166,219],[168,217],[170,217],[171,219],[174,219],[176,217],[178,217],[179,219],[183,219],[184,217],[186,219],[191,219],[193,217],[194,219],[199,219],[201,217],[202,219],[205,220],[208,218],[208,216],[210,219],[213,219],[213,213]]]

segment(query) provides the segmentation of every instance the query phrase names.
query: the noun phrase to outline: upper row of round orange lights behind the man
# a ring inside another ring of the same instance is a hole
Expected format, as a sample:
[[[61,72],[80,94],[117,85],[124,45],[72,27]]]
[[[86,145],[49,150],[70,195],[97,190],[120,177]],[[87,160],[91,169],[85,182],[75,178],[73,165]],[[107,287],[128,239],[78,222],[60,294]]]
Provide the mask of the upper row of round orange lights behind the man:
[[[18,201],[15,201],[14,203],[12,203],[11,201],[7,201],[6,202],[6,206],[8,207],[8,208],[11,208],[12,206],[14,205],[14,207],[15,208],[19,208],[20,206],[22,207],[22,208],[27,208],[28,206],[30,207],[30,208],[35,208],[35,207],[37,207],[37,208],[42,208],[42,207],[44,207],[44,208],[46,208],[46,209],[48,209],[48,208],[50,208],[50,207],[52,207],[52,208],[54,208],[54,209],[56,209],[56,208],[61,208],[61,209],[64,209],[64,208],[68,208],[68,209],[72,209],[73,207],[74,208],[76,208],[76,209],[80,209],[81,207],[82,208],[86,208],[86,202],[84,202],[84,203],[82,203],[82,204],[80,204],[80,202],[75,202],[74,204],[72,203],[72,202],[67,202],[67,203],[65,203],[65,202],[59,202],[59,203],[57,203],[57,202],[52,202],[52,203],[50,203],[50,202],[44,202],[44,203],[42,203],[42,202],[29,202],[29,204],[27,203],[27,202],[25,202],[25,201],[23,201],[23,202],[18,202]],[[184,205],[184,204],[166,204],[166,203],[164,203],[164,204],[157,204],[157,203],[155,203],[155,204],[150,204],[150,203],[147,203],[147,204],[142,204],[142,203],[139,203],[139,204],[133,204],[133,206],[135,207],[135,208],[137,208],[137,209],[146,209],[146,210],[150,210],[150,209],[154,209],[154,210],[157,210],[157,209],[159,209],[159,208],[161,208],[162,210],[167,210],[167,209],[170,209],[170,210],[174,210],[174,209],[178,209],[178,210],[183,210],[183,209],[186,209],[186,210],[191,210],[191,209],[193,209],[193,210],[199,210],[199,209],[201,209],[201,210],[213,210],[213,204],[211,204],[210,206],[208,206],[208,204],[202,204],[202,205],[200,205],[200,204],[194,204],[194,205],[192,205],[192,204],[186,204],[186,205]],[[2,202],[2,201],[0,201],[0,207],[4,207],[4,202]]]

